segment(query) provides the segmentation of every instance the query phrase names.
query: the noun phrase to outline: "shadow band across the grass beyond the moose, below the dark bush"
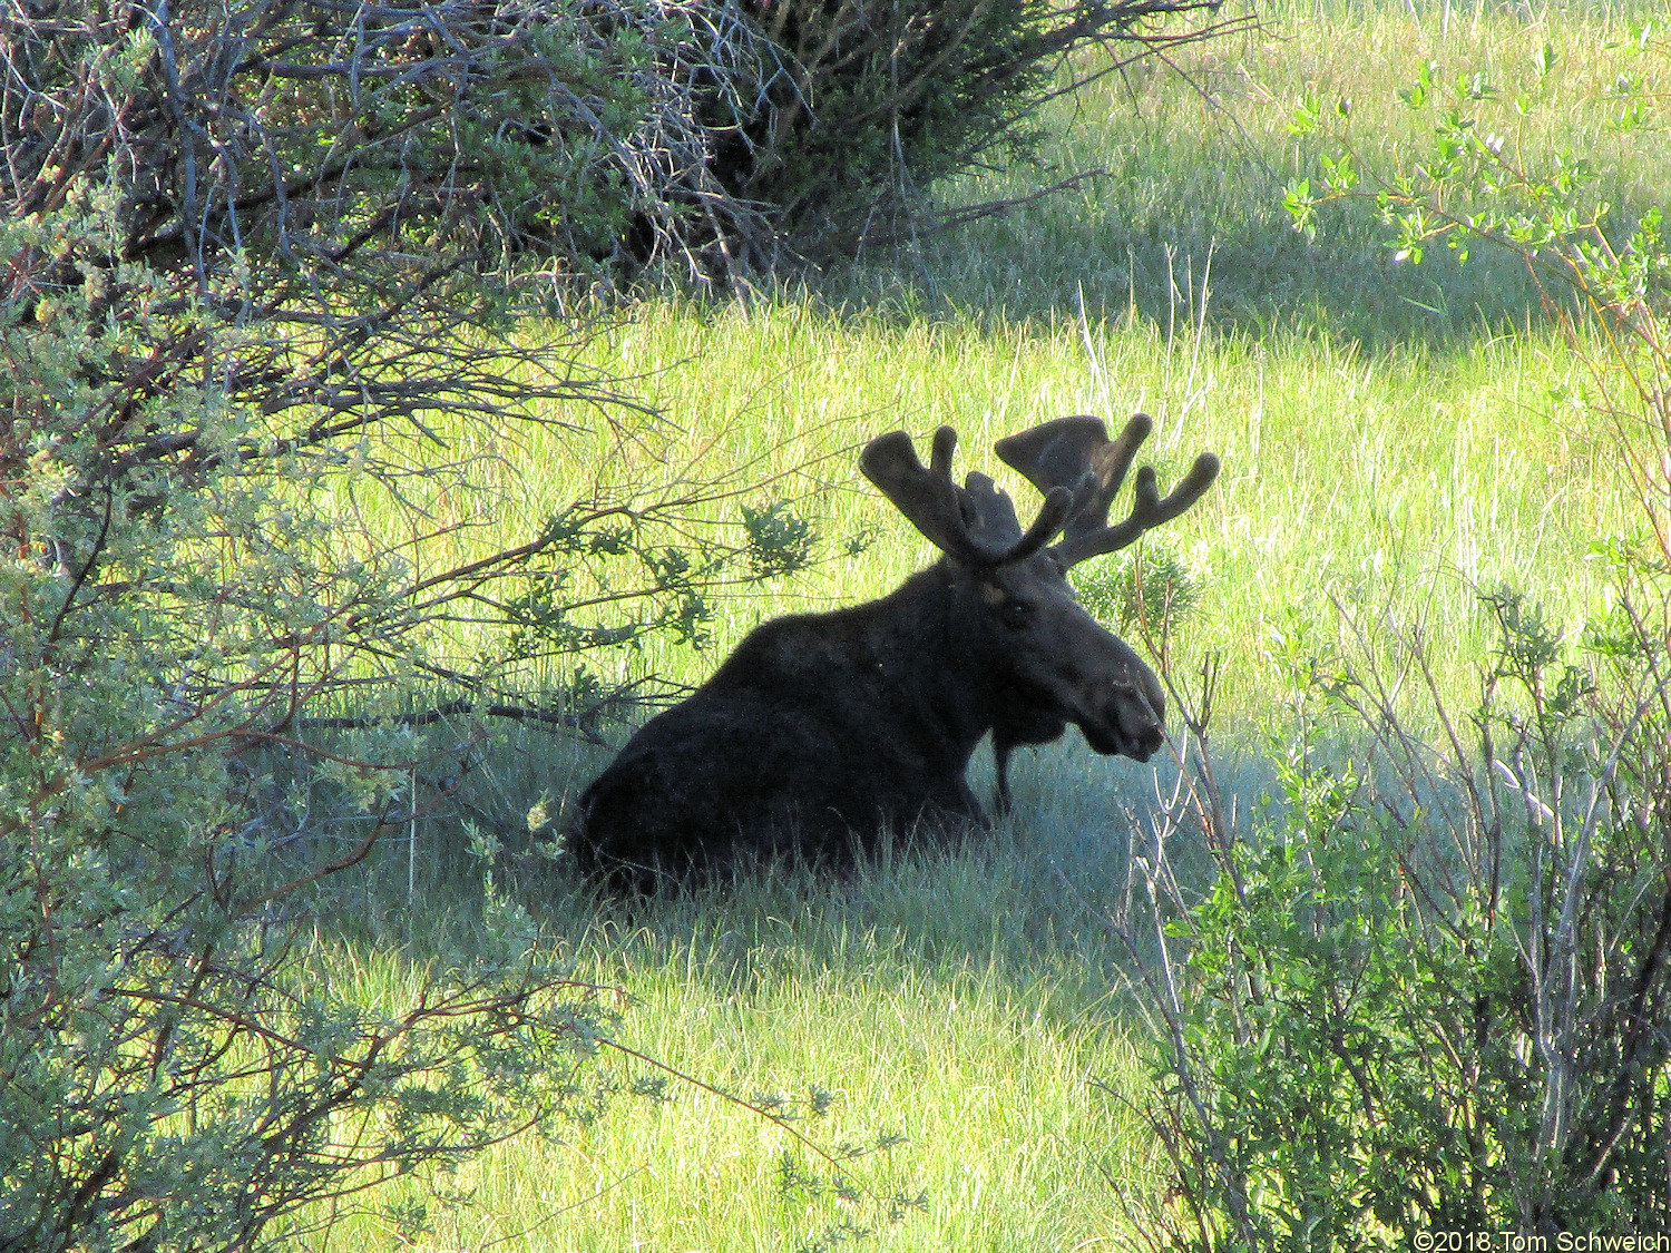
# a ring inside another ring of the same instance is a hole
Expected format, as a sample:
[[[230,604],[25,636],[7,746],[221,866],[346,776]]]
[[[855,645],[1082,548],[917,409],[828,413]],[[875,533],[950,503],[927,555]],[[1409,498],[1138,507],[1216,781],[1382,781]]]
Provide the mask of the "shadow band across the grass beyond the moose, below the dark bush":
[[[1454,351],[1536,327],[1549,309],[1524,262],[1444,246],[1400,261],[1365,212],[1325,214],[1313,237],[1268,207],[1191,204],[1146,175],[1100,179],[1004,216],[874,251],[804,279],[820,304],[901,324],[1141,319],[1168,336],[1205,326],[1255,337],[1300,334],[1370,354]],[[1176,212],[1168,211],[1176,204]]]

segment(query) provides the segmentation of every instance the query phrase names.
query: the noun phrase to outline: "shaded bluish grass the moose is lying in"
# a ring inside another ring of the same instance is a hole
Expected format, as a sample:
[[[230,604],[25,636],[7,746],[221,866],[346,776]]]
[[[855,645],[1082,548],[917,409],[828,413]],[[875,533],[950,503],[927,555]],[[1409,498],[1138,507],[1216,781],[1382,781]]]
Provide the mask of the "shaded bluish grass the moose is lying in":
[[[528,730],[495,737],[486,753],[473,780],[428,810],[416,845],[409,834],[388,839],[358,870],[354,899],[333,921],[341,939],[418,961],[468,961],[496,892],[528,912],[543,942],[571,954],[583,977],[628,991],[673,979],[749,997],[794,981],[976,979],[1001,984],[1006,1002],[1071,1021],[1120,1012],[1130,952],[1118,927],[1153,932],[1133,840],[1138,857],[1153,855],[1148,820],[1168,767],[1156,774],[1096,757],[1076,733],[1018,755],[1016,810],[991,830],[954,842],[901,837],[846,870],[770,864],[625,900],[540,852],[551,832],[530,837],[526,824],[536,805],[561,810],[561,795],[578,795],[605,753]],[[1243,805],[1268,784],[1258,758],[1227,765]],[[991,795],[986,752],[971,785]],[[498,845],[491,859],[481,855],[485,835]],[[1166,855],[1180,880],[1210,880],[1193,839],[1175,839]]]

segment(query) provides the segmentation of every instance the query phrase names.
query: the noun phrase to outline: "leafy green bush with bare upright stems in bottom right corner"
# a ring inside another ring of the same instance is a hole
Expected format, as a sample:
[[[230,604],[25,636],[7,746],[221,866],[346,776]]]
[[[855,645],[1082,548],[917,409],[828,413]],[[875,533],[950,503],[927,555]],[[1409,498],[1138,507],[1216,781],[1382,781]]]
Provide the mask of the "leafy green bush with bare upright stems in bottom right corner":
[[[1582,665],[1524,598],[1489,606],[1501,647],[1465,718],[1419,635],[1397,673],[1328,660],[1313,690],[1365,747],[1307,723],[1205,900],[1151,877],[1170,917],[1145,974],[1170,1039],[1151,1119],[1186,1248],[1671,1220],[1663,643]]]

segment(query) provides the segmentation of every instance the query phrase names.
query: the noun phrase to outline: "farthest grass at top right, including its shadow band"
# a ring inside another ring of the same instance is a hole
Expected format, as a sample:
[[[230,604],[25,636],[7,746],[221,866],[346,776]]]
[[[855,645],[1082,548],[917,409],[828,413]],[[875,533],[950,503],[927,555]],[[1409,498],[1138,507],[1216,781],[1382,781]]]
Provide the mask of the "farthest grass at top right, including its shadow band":
[[[1218,324],[1372,351],[1457,347],[1487,327],[1522,329],[1537,301],[1512,257],[1475,252],[1459,266],[1439,249],[1409,266],[1385,247],[1372,212],[1337,214],[1307,239],[1282,211],[1283,185],[1317,175],[1288,129],[1300,99],[1315,94],[1325,109],[1347,102],[1374,164],[1409,170],[1425,150],[1424,122],[1399,92],[1429,63],[1439,82],[1481,74],[1492,95],[1484,115],[1534,162],[1564,150],[1592,159],[1599,197],[1626,212],[1663,197],[1671,175],[1663,120],[1623,124],[1633,100],[1666,89],[1658,5],[1277,0],[1258,13],[1258,30],[1171,65],[1133,65],[1059,102],[1041,157],[1063,174],[1105,177],[902,247],[856,276],[859,286],[1044,321],[1076,316],[1081,304],[1120,317],[1135,302],[1146,319],[1173,326],[1211,254]],[[1554,107],[1522,115],[1516,89],[1534,77],[1546,45],[1556,60],[1539,94]],[[1021,197],[1036,184],[1018,167],[971,177],[949,199]]]

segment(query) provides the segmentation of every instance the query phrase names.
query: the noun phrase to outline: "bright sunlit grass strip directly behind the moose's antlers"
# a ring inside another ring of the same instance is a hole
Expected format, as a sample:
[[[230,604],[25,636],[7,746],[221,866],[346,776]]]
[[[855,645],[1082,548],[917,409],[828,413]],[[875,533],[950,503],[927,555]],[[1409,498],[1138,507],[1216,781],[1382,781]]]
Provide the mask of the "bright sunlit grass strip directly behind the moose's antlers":
[[[1178,653],[1222,655],[1227,708],[1248,717],[1268,712],[1282,687],[1273,632],[1320,630],[1332,600],[1399,591],[1419,601],[1429,630],[1457,640],[1445,678],[1462,683],[1487,643],[1475,590],[1536,588],[1576,626],[1604,578],[1591,545],[1634,525],[1609,469],[1614,434],[1572,404],[1584,369],[1554,331],[1369,353],[1211,326],[1168,339],[1141,319],[894,322],[782,296],[650,306],[597,353],[647,373],[647,396],[677,424],[668,461],[757,461],[765,478],[824,458],[815,478],[825,483],[789,478],[762,493],[800,496],[824,536],[822,568],[717,601],[705,650],[650,642],[617,658],[622,678],[698,682],[762,618],[881,595],[932,560],[856,469],[859,443],[901,426],[924,439],[954,426],[959,466],[996,473],[1023,515],[1038,496],[991,443],[1049,418],[1151,413],[1146,456],[1163,481],[1216,451],[1218,484],[1150,543],[1201,583]],[[550,434],[521,438],[518,456],[483,469],[496,479],[490,533],[505,541],[588,490],[595,466]],[[869,546],[846,556],[861,538]]]

